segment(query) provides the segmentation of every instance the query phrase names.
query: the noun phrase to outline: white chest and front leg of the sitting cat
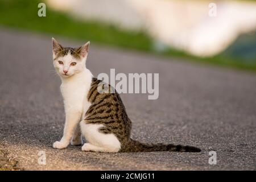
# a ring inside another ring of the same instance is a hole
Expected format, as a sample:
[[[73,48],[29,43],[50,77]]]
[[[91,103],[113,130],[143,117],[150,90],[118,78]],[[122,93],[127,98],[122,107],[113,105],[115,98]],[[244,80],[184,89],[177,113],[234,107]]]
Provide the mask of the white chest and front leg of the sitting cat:
[[[63,95],[66,117],[63,137],[60,142],[53,144],[54,148],[67,147],[72,136],[76,135],[74,131],[91,105],[87,100],[87,94],[92,77],[89,69],[85,68],[71,77],[61,79],[60,90]]]

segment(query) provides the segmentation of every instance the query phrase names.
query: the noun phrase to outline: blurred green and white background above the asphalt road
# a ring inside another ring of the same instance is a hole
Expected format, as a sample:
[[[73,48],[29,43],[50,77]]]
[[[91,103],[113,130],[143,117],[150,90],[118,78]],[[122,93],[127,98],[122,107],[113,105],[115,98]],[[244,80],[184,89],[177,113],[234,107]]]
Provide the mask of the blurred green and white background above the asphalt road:
[[[0,26],[256,71],[256,1],[1,0]]]

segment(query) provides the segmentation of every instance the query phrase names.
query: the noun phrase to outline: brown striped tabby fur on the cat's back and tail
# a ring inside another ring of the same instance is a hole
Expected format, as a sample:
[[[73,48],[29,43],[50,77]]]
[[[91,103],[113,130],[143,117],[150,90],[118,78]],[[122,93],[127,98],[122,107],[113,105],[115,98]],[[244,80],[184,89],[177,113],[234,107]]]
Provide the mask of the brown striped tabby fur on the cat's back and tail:
[[[126,114],[125,106],[117,92],[99,93],[97,90],[101,80],[92,78],[91,88],[87,95],[92,103],[86,111],[86,123],[103,124],[99,131],[104,134],[114,134],[121,143],[119,152],[150,152],[150,151],[180,151],[200,152],[192,146],[180,146],[174,144],[144,144],[130,138],[131,120]],[[111,86],[109,85],[109,91]],[[103,87],[102,87],[103,88]],[[104,88],[103,88],[104,89]],[[112,88],[113,89],[113,88]]]

